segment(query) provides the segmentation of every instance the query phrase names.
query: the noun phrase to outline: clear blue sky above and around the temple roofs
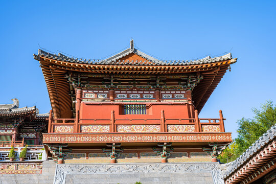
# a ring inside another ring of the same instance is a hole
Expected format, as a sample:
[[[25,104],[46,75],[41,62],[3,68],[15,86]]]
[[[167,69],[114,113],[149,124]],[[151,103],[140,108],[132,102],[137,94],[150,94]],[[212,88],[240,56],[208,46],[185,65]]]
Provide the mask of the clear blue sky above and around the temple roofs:
[[[237,136],[237,120],[275,98],[275,1],[2,1],[0,104],[51,109],[33,54],[41,48],[103,58],[129,44],[164,60],[231,50],[232,65],[200,118],[218,118]]]

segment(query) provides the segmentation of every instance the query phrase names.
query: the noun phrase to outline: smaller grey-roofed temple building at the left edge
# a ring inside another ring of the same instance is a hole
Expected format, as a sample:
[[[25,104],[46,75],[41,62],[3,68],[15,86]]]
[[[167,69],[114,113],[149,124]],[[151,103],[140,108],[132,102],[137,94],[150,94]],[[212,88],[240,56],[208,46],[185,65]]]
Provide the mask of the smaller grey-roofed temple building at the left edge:
[[[49,113],[39,114],[33,107],[19,108],[19,101],[0,105],[0,147],[42,145],[42,132],[47,132]]]

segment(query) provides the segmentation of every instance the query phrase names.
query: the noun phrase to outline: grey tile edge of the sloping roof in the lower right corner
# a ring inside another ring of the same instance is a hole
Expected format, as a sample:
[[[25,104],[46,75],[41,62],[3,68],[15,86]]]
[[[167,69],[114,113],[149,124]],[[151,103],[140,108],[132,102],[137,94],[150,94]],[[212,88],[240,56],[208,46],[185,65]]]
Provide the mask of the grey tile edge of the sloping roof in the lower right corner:
[[[265,147],[270,141],[276,138],[276,125],[272,126],[269,130],[267,130],[259,139],[253,143],[247,150],[245,150],[240,157],[234,160],[227,169],[224,178],[228,177],[232,173],[234,173],[237,169],[239,169],[243,164],[246,163],[248,159],[258,151],[260,151],[263,147]]]

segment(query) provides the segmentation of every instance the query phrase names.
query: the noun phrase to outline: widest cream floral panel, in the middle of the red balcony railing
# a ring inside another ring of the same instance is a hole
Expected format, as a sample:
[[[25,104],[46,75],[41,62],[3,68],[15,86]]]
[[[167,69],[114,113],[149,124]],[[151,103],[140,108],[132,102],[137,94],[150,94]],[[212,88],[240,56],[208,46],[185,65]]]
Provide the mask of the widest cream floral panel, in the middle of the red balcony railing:
[[[159,132],[159,125],[118,125],[117,132]]]

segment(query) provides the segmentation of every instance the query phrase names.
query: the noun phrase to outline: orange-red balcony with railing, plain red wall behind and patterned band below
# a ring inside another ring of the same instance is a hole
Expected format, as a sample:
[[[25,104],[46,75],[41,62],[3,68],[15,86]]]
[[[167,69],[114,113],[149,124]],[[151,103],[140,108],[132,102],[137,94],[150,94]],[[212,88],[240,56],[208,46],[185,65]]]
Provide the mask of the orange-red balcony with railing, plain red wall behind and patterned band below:
[[[43,143],[229,143],[224,120],[221,110],[217,119],[198,118],[190,99],[77,98],[75,119],[50,111]]]

